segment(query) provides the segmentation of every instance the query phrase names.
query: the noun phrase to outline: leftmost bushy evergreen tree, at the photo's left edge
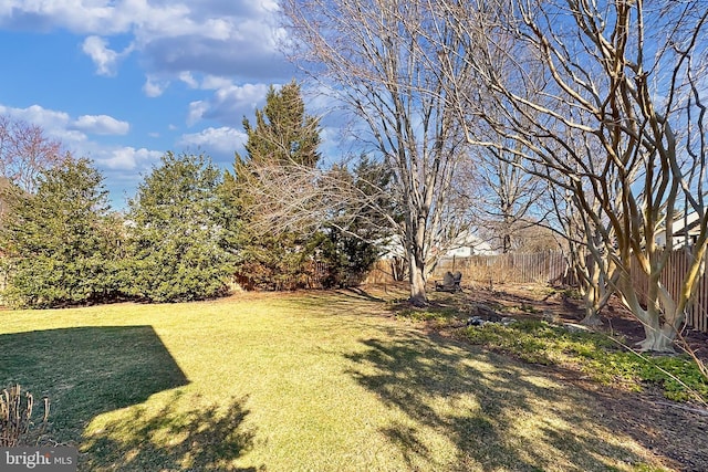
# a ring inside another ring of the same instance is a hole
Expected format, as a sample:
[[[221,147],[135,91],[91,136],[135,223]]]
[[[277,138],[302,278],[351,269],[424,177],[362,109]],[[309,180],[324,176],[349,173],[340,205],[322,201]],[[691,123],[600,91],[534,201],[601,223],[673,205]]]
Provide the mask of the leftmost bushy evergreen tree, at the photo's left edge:
[[[10,304],[51,307],[118,296],[119,223],[88,160],[67,157],[41,171],[34,195],[6,186],[3,201],[0,251]]]

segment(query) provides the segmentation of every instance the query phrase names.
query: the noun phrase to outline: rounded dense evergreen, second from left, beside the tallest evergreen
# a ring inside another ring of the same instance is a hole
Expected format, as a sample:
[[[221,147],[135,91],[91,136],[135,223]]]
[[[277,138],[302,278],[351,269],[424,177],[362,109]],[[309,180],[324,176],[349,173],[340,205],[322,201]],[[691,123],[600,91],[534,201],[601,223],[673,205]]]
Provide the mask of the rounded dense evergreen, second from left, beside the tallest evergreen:
[[[233,256],[221,182],[205,156],[163,156],[129,202],[129,294],[178,302],[227,290]]]

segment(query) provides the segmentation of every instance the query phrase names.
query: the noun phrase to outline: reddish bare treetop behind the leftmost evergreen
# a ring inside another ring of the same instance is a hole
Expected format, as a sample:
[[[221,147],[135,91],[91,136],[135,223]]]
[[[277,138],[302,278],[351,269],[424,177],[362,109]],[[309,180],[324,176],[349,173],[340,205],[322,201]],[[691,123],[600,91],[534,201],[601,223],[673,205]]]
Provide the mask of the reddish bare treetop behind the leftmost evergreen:
[[[41,127],[0,116],[0,176],[28,192],[35,188],[34,179],[41,170],[52,168],[65,159],[61,144],[44,135]]]

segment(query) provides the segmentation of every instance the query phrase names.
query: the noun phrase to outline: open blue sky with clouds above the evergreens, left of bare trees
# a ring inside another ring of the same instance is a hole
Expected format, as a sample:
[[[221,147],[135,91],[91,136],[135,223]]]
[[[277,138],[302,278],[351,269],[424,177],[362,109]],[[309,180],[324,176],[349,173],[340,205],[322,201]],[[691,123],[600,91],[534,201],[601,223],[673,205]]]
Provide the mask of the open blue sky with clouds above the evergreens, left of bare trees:
[[[298,76],[284,36],[274,0],[0,0],[0,115],[92,159],[121,209],[167,150],[230,168]]]

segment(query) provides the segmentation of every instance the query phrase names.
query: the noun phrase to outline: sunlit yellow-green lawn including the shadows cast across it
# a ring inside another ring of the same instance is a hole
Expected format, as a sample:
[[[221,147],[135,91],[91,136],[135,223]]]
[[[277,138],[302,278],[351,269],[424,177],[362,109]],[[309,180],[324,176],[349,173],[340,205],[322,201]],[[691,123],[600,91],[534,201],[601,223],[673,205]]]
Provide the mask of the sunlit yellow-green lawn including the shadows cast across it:
[[[0,385],[85,471],[650,471],[542,366],[357,293],[2,312]]]

